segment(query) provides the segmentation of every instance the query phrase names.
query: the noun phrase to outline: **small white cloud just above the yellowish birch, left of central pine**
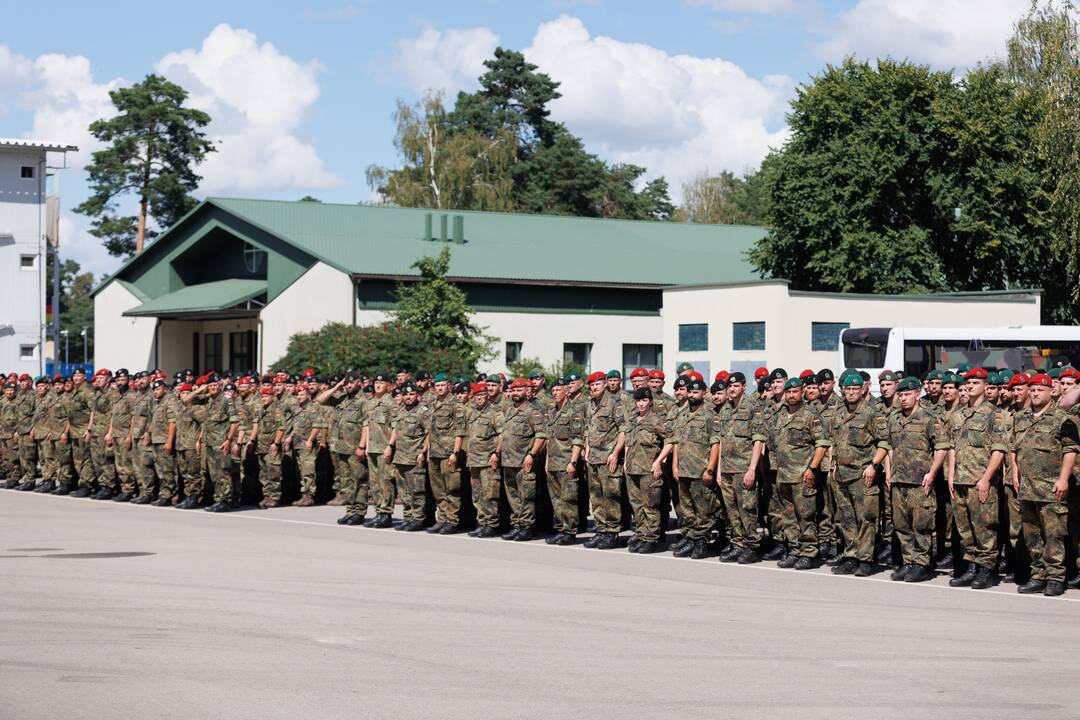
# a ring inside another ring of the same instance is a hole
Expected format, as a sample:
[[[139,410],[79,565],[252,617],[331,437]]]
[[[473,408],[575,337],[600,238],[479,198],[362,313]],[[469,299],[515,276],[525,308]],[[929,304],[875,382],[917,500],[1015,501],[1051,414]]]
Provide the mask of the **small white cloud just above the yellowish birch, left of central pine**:
[[[395,66],[417,90],[441,90],[453,97],[476,86],[484,60],[498,44],[499,36],[486,27],[442,31],[429,27],[397,41]]]

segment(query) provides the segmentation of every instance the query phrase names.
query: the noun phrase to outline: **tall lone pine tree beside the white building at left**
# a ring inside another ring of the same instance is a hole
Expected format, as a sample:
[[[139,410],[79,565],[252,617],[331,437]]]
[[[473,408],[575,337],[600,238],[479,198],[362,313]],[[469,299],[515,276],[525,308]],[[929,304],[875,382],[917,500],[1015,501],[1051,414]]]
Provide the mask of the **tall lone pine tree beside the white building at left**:
[[[214,152],[202,128],[210,116],[184,106],[187,92],[157,74],[109,93],[118,114],[96,120],[91,134],[108,147],[86,166],[91,196],[75,208],[94,218],[90,232],[114,256],[141,253],[159,228],[178,220],[195,205],[191,193],[201,179],[193,167]],[[135,215],[118,214],[119,203],[135,195]]]

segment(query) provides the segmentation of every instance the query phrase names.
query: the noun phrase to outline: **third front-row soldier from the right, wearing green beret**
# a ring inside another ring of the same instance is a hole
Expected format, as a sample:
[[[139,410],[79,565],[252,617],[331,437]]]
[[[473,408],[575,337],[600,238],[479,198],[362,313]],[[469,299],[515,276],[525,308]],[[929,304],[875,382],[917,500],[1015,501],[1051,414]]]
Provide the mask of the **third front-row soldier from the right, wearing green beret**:
[[[896,384],[899,411],[889,417],[889,493],[901,567],[894,581],[920,583],[930,570],[937,499],[937,477],[953,443],[945,423],[919,403],[922,384],[907,377]]]

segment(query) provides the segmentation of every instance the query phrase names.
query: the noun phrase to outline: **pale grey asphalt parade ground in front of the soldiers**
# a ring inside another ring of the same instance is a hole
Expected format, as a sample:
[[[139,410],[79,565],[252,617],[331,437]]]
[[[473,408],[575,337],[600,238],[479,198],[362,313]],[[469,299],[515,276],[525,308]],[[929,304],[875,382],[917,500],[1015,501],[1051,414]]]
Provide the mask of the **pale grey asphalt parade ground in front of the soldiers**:
[[[1075,718],[1080,593],[0,491],[0,720]]]

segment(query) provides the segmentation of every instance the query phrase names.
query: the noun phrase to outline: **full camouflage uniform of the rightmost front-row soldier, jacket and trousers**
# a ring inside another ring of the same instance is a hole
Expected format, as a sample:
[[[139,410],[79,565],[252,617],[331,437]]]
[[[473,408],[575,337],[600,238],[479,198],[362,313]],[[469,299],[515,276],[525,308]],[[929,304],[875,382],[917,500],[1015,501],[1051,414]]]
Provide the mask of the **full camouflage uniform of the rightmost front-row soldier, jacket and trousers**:
[[[1080,451],[1076,422],[1056,406],[1038,416],[1026,408],[1016,415],[1013,433],[1031,579],[1064,583],[1068,505],[1054,495],[1054,483],[1062,471],[1062,458]]]

